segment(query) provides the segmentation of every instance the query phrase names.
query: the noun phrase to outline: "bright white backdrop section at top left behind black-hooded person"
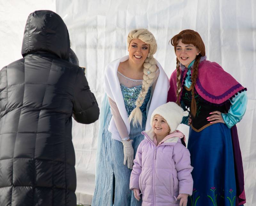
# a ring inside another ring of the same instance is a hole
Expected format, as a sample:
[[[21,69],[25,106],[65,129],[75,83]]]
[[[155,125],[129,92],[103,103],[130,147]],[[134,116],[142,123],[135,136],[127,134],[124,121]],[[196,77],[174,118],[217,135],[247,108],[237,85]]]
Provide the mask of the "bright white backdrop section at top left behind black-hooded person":
[[[0,69],[21,59],[21,45],[28,15],[36,10],[56,11],[55,0],[0,0]]]

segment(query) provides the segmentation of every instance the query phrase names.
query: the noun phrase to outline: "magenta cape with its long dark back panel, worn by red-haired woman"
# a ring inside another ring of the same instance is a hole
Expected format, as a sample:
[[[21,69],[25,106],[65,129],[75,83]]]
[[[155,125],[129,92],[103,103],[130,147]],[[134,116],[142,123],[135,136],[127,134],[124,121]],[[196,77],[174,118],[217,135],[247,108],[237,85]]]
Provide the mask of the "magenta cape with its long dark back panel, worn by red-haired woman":
[[[183,85],[183,81],[186,79],[185,75],[187,74],[187,71],[187,68],[185,68],[184,71],[182,71],[180,68],[181,85]],[[191,75],[192,72],[193,69],[191,70]],[[170,77],[170,89],[168,91],[167,102],[176,102],[177,100],[176,83],[177,71],[175,70]],[[225,104],[227,111],[230,107],[230,101],[227,100],[232,97],[235,97],[235,95],[237,95],[237,92],[242,92],[246,90],[246,88],[244,88],[240,83],[238,83],[230,74],[225,72],[224,69],[219,64],[207,60],[204,60],[201,63],[199,63],[198,77],[195,88],[198,94],[208,102],[215,104]],[[244,204],[246,202],[246,198],[244,192],[243,162],[236,125],[231,128],[231,136],[235,163],[237,206]]]

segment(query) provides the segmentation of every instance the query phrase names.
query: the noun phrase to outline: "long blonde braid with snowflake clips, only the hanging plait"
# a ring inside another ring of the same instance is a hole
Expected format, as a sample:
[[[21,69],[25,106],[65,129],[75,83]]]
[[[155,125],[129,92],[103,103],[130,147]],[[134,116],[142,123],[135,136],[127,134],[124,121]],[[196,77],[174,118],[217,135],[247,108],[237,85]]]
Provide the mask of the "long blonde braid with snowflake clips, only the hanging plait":
[[[132,110],[128,118],[129,122],[133,120],[133,126],[135,126],[137,123],[139,123],[140,126],[142,125],[142,113],[140,111],[140,107],[142,106],[145,100],[149,87],[152,86],[154,78],[156,77],[156,59],[153,58],[153,55],[150,57],[151,58],[147,57],[143,64],[144,75],[142,80],[142,89],[140,91],[138,99],[136,100],[136,107]]]

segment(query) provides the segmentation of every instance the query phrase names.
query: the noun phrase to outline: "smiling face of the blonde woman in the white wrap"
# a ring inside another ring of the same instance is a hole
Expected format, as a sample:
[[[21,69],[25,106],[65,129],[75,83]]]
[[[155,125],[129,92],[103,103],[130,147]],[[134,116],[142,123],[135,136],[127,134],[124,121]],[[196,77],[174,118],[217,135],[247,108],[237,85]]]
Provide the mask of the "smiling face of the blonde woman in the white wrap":
[[[148,56],[149,44],[146,44],[140,39],[132,39],[128,52],[129,60],[131,60],[134,64],[143,64]]]

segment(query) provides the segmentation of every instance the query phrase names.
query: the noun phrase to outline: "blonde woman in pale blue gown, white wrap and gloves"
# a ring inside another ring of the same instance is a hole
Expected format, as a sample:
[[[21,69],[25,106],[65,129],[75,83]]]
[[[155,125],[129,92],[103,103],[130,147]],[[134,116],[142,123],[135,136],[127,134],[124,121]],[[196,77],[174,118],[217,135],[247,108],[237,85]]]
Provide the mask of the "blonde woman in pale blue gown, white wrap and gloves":
[[[129,56],[109,63],[100,110],[95,192],[92,206],[140,206],[129,190],[134,154],[150,128],[154,109],[166,103],[169,80],[154,59],[156,39],[147,29],[127,37]],[[111,110],[109,109],[111,108]]]

